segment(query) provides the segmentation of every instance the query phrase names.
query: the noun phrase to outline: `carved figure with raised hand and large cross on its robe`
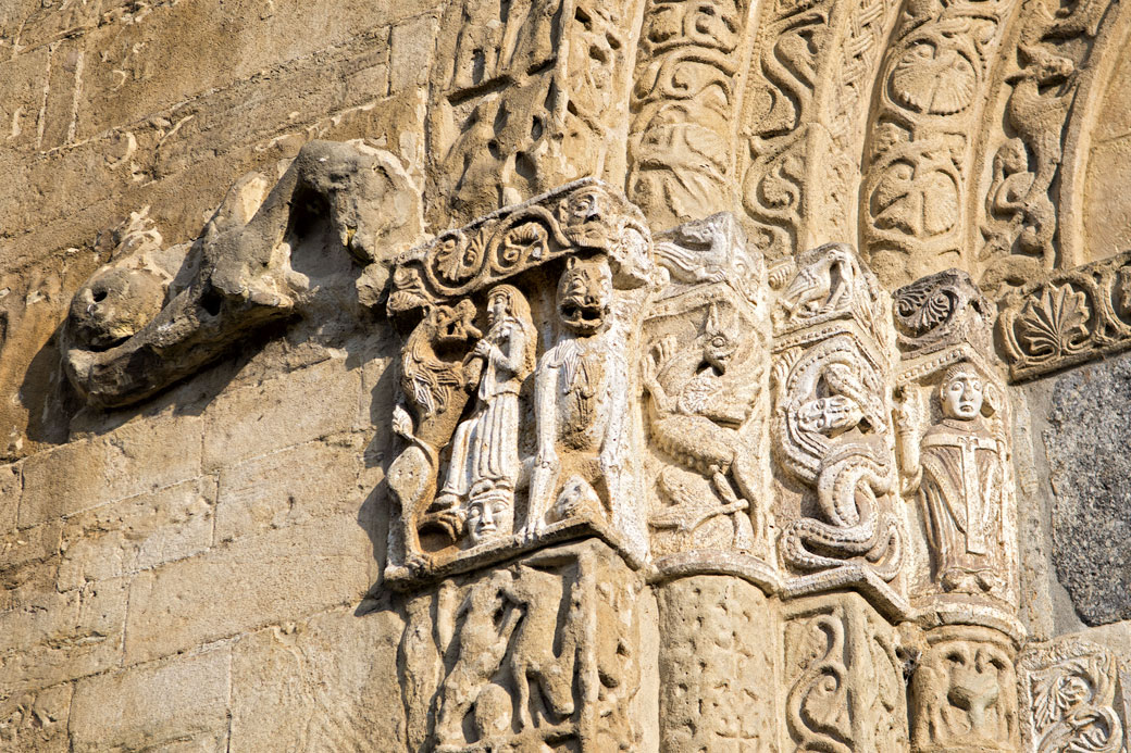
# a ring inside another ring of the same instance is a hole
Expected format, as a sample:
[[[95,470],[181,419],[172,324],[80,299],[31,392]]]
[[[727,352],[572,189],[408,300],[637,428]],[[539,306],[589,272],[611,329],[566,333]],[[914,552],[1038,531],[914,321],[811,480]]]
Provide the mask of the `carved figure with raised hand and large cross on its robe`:
[[[901,431],[908,483],[918,488],[934,580],[943,591],[1001,589],[1004,442],[983,417],[985,378],[969,363],[951,366],[939,386],[942,417],[920,442]]]

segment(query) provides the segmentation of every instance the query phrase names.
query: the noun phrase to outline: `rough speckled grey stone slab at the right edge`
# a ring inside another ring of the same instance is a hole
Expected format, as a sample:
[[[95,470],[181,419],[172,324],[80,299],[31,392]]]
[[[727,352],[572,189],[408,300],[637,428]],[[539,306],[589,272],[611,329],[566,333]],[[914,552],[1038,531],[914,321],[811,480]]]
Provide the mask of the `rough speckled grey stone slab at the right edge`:
[[[1086,624],[1131,618],[1131,357],[1061,376],[1044,441],[1056,574]]]

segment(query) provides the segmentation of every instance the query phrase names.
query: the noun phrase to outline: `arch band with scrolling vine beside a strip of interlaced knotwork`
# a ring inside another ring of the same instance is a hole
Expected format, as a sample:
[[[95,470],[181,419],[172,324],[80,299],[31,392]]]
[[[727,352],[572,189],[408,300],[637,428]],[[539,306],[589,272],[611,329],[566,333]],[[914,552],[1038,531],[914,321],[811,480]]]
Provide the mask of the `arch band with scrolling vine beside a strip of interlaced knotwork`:
[[[871,83],[900,3],[763,3],[743,101],[742,201],[768,258],[855,239]]]

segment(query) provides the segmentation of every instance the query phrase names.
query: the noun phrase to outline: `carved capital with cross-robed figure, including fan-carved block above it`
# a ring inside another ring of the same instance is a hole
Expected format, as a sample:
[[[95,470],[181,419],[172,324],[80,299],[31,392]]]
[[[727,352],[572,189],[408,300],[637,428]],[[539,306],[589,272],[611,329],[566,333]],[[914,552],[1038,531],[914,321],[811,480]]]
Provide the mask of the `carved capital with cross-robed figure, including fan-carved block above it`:
[[[995,309],[956,269],[899,288],[895,301],[901,492],[927,545],[913,594],[931,608],[981,605],[1008,618],[1018,599],[1017,503]]]

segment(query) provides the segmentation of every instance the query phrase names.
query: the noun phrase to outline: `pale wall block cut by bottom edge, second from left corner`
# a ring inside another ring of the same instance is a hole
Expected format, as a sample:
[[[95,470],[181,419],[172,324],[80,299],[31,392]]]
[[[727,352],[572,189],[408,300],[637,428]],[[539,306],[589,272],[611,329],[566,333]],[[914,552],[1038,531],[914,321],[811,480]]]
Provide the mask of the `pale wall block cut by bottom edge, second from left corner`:
[[[71,703],[75,753],[227,750],[231,649],[80,681]]]

